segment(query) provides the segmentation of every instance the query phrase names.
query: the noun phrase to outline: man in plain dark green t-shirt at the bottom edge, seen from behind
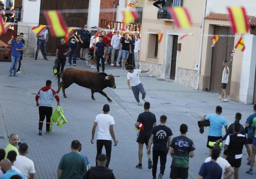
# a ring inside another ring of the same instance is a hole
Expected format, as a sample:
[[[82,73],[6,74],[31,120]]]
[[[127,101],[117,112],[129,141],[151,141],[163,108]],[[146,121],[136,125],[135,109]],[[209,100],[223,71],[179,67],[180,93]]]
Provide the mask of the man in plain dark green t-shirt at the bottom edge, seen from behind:
[[[79,154],[81,143],[77,140],[71,143],[71,152],[63,155],[58,166],[58,179],[81,179],[87,172],[87,162]]]

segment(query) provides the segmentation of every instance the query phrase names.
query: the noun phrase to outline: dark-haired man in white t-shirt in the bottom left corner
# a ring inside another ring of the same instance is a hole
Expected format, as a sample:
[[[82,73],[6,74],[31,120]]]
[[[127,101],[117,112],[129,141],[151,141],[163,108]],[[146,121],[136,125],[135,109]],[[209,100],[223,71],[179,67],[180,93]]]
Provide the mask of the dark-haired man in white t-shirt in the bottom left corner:
[[[14,166],[21,171],[26,179],[34,179],[34,162],[26,157],[28,154],[28,145],[26,143],[21,143],[19,147],[19,152],[20,155],[17,156]]]

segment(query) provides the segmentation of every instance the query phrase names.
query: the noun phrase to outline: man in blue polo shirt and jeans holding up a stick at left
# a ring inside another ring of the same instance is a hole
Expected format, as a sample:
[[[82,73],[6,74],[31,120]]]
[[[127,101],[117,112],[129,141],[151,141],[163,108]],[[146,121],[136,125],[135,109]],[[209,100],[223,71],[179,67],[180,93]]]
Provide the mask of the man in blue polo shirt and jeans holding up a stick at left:
[[[14,69],[13,76],[17,77],[17,68],[19,64],[19,59],[21,56],[21,51],[23,51],[23,43],[20,41],[20,36],[16,36],[16,40],[13,40],[14,36],[11,36],[11,39],[8,41],[8,45],[12,44],[11,50],[11,67],[9,71],[9,77],[12,75],[12,69]]]

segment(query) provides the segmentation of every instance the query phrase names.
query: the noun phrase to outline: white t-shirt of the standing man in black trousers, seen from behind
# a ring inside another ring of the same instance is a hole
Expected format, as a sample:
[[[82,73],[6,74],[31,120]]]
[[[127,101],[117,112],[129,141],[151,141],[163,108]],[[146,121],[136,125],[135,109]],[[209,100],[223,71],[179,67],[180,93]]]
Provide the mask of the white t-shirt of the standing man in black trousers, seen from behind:
[[[98,114],[95,122],[97,122],[98,133],[97,140],[109,140],[111,141],[111,135],[109,127],[115,124],[114,118],[109,114]]]

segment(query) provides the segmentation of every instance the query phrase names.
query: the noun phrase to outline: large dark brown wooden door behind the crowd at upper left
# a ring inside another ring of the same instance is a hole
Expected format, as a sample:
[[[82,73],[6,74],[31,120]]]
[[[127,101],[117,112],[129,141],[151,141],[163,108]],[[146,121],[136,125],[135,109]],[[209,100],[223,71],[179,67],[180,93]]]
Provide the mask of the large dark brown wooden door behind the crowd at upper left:
[[[41,1],[40,10],[48,9],[88,9],[89,0],[44,0]],[[88,13],[62,13],[62,18],[65,20],[68,27],[83,28],[87,24]],[[43,13],[40,14],[39,24],[46,24],[46,19]],[[48,28],[49,30],[49,28]],[[78,30],[78,34],[79,34]],[[47,55],[55,55],[57,44],[60,38],[52,37],[49,32],[49,41],[47,42]],[[42,48],[42,47],[41,47]],[[78,51],[79,54],[79,51]]]

